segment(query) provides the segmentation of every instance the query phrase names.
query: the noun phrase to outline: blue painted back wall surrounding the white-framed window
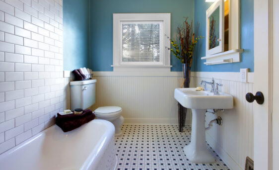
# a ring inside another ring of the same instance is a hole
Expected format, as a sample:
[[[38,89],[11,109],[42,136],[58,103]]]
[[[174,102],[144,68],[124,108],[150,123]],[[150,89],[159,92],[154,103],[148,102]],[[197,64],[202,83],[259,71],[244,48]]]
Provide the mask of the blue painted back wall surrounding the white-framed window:
[[[183,17],[194,19],[194,0],[91,0],[90,68],[113,71],[113,13],[171,13],[171,37]],[[182,71],[180,61],[171,56],[172,71]]]

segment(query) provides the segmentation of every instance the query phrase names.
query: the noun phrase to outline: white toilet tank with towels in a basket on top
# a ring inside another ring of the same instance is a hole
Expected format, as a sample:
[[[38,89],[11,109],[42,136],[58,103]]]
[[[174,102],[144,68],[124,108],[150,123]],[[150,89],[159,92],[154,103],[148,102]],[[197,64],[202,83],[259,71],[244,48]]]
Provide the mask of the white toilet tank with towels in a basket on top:
[[[70,109],[87,109],[95,103],[96,80],[70,82]]]

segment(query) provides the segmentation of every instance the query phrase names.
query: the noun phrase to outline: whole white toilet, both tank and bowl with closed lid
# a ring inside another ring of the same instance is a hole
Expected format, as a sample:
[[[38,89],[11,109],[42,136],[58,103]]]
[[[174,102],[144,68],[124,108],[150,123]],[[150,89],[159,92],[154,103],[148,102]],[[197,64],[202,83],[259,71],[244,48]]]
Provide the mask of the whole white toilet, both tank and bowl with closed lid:
[[[87,109],[95,103],[96,80],[70,82],[70,109]],[[124,122],[121,116],[122,108],[118,106],[98,107],[93,113],[97,119],[107,120],[115,127],[115,136],[122,134],[121,126]]]

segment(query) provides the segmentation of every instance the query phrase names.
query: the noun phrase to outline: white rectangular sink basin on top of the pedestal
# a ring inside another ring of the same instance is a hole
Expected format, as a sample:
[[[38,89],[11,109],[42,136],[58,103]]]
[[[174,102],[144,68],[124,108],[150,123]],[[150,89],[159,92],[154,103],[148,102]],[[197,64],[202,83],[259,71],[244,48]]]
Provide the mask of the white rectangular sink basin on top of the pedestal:
[[[230,109],[233,108],[233,97],[219,92],[195,91],[195,88],[175,88],[174,98],[184,107],[194,109]]]

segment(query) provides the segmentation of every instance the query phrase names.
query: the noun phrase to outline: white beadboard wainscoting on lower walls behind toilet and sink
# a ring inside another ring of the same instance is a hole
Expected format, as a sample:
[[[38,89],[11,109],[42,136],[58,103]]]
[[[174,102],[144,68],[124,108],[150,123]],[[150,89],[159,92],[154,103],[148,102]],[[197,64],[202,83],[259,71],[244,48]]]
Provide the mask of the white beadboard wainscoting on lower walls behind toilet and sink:
[[[222,126],[214,124],[206,132],[207,142],[231,170],[244,170],[246,156],[253,159],[253,104],[245,100],[245,94],[254,93],[254,73],[248,73],[248,83],[242,83],[240,73],[192,72],[190,86],[201,86],[201,80],[211,81],[212,77],[223,84],[220,91],[233,95],[234,108],[206,114],[206,125],[218,115],[223,120]],[[127,124],[177,124],[174,89],[179,87],[181,78],[182,72],[94,72],[94,79],[97,80],[96,103],[91,109],[120,106]],[[69,82],[70,78],[65,78],[65,108],[68,109]],[[186,123],[190,124],[191,121],[189,110]]]

